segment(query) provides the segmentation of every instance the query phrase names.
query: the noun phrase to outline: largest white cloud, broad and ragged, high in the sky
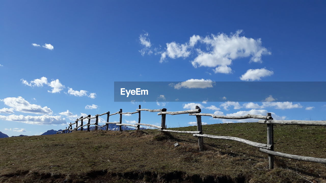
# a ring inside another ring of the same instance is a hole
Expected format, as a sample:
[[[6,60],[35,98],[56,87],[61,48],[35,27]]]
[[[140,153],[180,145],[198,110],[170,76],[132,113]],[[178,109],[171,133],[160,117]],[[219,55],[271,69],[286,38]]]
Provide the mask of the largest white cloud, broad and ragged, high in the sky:
[[[230,73],[231,68],[227,66],[235,59],[251,57],[250,62],[262,62],[262,55],[271,54],[271,52],[261,46],[261,39],[240,36],[241,32],[242,30],[239,30],[231,35],[219,33],[206,37],[193,35],[184,44],[176,42],[167,43],[166,51],[161,53],[160,63],[166,57],[171,59],[187,58],[191,53],[195,53],[196,56],[191,62],[194,67],[216,67],[215,73]],[[201,44],[195,48],[197,43]],[[202,50],[202,48],[205,49]]]

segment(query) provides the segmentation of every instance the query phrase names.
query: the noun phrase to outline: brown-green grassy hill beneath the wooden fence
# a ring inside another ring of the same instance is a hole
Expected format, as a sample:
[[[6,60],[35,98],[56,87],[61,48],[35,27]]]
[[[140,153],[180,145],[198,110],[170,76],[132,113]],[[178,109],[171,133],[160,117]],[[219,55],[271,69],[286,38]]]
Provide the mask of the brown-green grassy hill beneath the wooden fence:
[[[195,131],[197,127],[171,128]],[[204,134],[266,143],[266,125],[204,125]],[[275,151],[326,157],[326,129],[275,125]],[[174,143],[180,146],[174,147]],[[79,131],[0,139],[0,182],[326,182],[326,165],[275,157],[246,144],[157,130]]]

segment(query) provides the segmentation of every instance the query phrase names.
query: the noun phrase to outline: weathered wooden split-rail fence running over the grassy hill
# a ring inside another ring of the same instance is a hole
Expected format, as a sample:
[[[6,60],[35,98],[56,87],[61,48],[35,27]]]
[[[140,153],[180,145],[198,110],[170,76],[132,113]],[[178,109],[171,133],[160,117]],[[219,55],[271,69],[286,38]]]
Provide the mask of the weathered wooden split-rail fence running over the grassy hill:
[[[161,126],[153,125],[153,124],[144,124],[141,123],[141,111],[148,111],[148,112],[158,112],[157,115],[161,115]],[[90,125],[95,125],[95,130],[98,129],[98,127],[104,127],[106,126],[106,130],[109,129],[109,124],[115,124],[119,126],[119,130],[122,131],[121,126],[132,126],[136,127],[137,130],[140,130],[140,125],[142,126],[149,126],[158,128],[158,131],[162,131],[163,133],[172,132],[172,133],[186,133],[186,134],[193,134],[194,137],[198,137],[198,145],[199,150],[204,150],[203,148],[203,137],[206,138],[215,138],[215,139],[224,139],[224,140],[234,140],[237,142],[242,142],[244,144],[248,144],[250,146],[254,146],[259,148],[259,151],[267,153],[268,154],[268,161],[269,161],[269,169],[274,168],[274,156],[280,156],[284,158],[294,159],[294,160],[301,160],[301,161],[307,161],[307,162],[317,162],[317,163],[324,163],[326,164],[326,159],[324,158],[313,158],[313,157],[305,157],[305,156],[297,156],[292,154],[285,154],[282,152],[276,152],[274,151],[274,134],[273,134],[273,125],[274,124],[283,124],[283,125],[316,125],[316,126],[326,126],[326,121],[308,121],[308,120],[273,120],[271,113],[267,113],[266,116],[260,116],[260,115],[252,115],[247,114],[245,116],[218,116],[214,114],[207,114],[207,113],[200,113],[200,107],[196,106],[196,109],[192,110],[185,110],[185,111],[174,111],[169,112],[166,108],[163,109],[142,109],[141,105],[139,105],[139,108],[136,109],[135,112],[122,112],[122,109],[120,111],[115,112],[113,114],[110,114],[110,111],[103,113],[103,114],[96,114],[95,117],[91,117],[91,115],[88,115],[87,117],[80,117],[77,119],[74,123],[70,123],[69,126],[58,133],[69,133],[72,131],[77,131],[78,128],[81,128],[83,130],[84,126],[87,126],[87,131],[90,131],[89,127]],[[122,115],[123,114],[136,114],[138,113],[138,123],[135,124],[127,124],[122,123]],[[102,115],[107,115],[107,121],[104,125],[99,126],[98,125],[98,117]],[[120,121],[119,122],[109,122],[109,117],[112,115],[120,115]],[[165,119],[166,115],[178,115],[178,114],[189,114],[191,116],[196,116],[197,119],[197,131],[176,131],[176,130],[167,130],[165,125]],[[219,118],[219,119],[234,119],[234,120],[240,120],[240,119],[261,119],[258,121],[258,123],[261,124],[267,124],[267,144],[252,142],[246,139],[238,138],[238,137],[231,137],[231,136],[218,136],[218,135],[208,135],[202,133],[202,125],[201,125],[201,116],[210,116],[213,118]],[[96,119],[95,123],[90,123],[91,119]],[[83,124],[83,120],[88,120],[87,124]],[[80,125],[78,125],[78,121],[80,121]],[[72,125],[76,124],[75,128],[72,128]]]

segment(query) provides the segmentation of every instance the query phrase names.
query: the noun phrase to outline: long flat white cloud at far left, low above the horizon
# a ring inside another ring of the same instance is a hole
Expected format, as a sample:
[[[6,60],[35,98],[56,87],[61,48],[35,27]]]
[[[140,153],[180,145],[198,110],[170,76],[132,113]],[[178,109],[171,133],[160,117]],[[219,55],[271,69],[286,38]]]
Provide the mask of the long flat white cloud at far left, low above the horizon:
[[[23,116],[23,115],[9,115],[9,116],[2,116],[0,115],[1,120],[6,121],[19,121],[27,124],[63,124],[66,123],[64,118],[61,116],[49,116],[49,115],[42,115],[42,116]]]

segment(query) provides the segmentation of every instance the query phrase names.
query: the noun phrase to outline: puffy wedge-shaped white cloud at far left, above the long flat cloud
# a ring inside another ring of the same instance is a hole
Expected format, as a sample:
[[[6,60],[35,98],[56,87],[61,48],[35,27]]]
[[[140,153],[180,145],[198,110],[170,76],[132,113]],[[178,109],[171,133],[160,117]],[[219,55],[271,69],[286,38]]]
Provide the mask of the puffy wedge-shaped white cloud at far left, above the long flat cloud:
[[[25,113],[34,113],[34,114],[52,114],[52,110],[45,106],[41,107],[36,104],[30,104],[21,96],[19,97],[8,97],[3,99],[5,105],[12,107],[14,110]]]

